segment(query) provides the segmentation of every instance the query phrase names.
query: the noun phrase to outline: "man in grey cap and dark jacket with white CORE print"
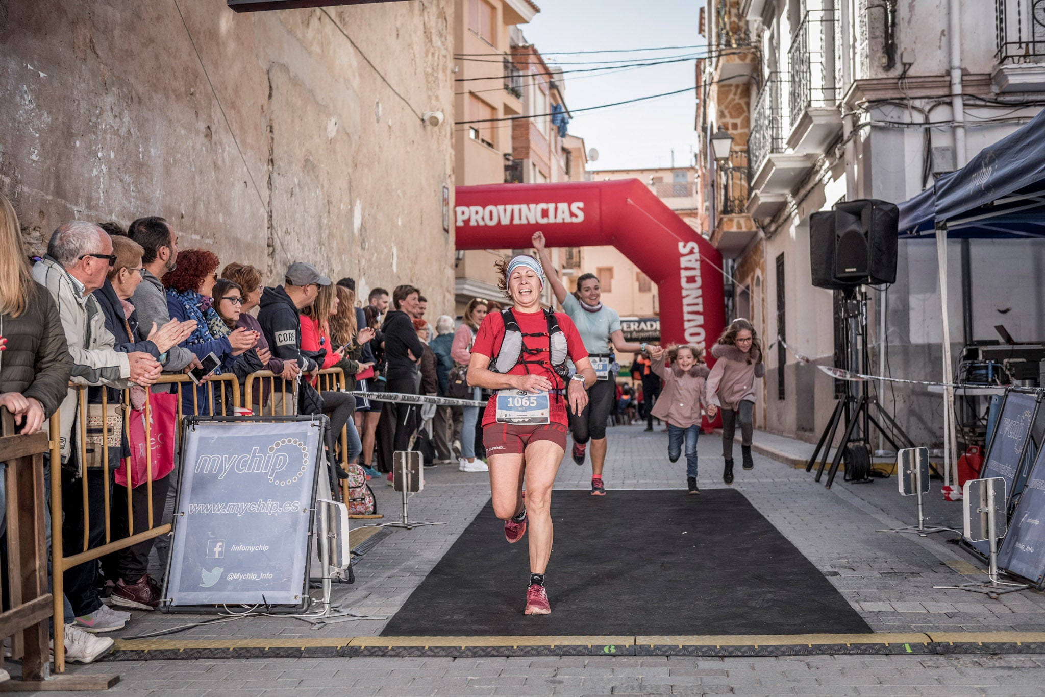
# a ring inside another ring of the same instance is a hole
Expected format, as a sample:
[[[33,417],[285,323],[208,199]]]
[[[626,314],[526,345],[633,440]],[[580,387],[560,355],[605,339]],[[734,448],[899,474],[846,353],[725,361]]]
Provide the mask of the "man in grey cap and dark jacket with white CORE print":
[[[330,285],[330,279],[312,264],[295,261],[286,268],[283,285],[261,292],[258,324],[272,354],[284,361],[297,361],[303,373],[311,373],[320,367],[315,353],[301,350],[300,313],[316,302],[321,285]]]

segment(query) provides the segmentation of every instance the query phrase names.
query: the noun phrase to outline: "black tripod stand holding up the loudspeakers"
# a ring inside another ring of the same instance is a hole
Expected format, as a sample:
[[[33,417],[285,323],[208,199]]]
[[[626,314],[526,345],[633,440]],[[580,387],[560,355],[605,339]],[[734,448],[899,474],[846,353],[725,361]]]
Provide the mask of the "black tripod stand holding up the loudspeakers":
[[[855,370],[858,373],[866,373],[866,366],[869,364],[867,347],[867,294],[862,288],[847,288],[843,292],[841,317],[844,322],[844,334],[842,346],[840,347],[838,363],[843,364],[842,368]],[[837,311],[837,310],[836,310]],[[823,477],[823,470],[828,466],[828,459],[831,455],[831,445],[834,443],[838,427],[844,424],[841,442],[835,450],[835,457],[828,469],[828,482],[825,485],[828,489],[834,484],[835,475],[842,458],[846,458],[846,465],[850,469],[856,470],[856,461],[860,460],[866,469],[863,477],[856,477],[857,482],[873,482],[868,474],[870,472],[870,427],[874,426],[882,437],[892,446],[893,450],[900,450],[901,445],[897,439],[903,442],[903,447],[914,447],[914,442],[904,433],[896,420],[882,409],[878,399],[870,396],[870,389],[867,380],[863,380],[856,387],[850,380],[842,380],[844,394],[838,397],[835,411],[831,415],[831,420],[820,434],[820,439],[816,443],[813,456],[806,464],[806,471],[811,471],[817,464],[822,450],[823,459],[819,461],[816,470],[815,482],[819,482]],[[876,418],[878,417],[878,418]],[[879,421],[881,419],[881,421]],[[882,427],[885,422],[891,432]],[[893,434],[897,439],[893,438]]]

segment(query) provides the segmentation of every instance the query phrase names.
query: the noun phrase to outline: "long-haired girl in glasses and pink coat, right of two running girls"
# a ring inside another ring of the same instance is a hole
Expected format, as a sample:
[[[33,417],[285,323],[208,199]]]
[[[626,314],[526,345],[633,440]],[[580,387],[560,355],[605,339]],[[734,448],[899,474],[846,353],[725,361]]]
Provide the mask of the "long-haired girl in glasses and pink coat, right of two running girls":
[[[740,451],[744,469],[754,467],[751,460],[751,411],[758,398],[756,379],[766,374],[762,363],[762,343],[754,326],[744,318],[729,323],[718,343],[712,347],[715,366],[707,376],[706,394],[711,405],[707,418],[722,410],[722,457],[725,468],[722,481],[733,484],[733,438],[740,421]]]

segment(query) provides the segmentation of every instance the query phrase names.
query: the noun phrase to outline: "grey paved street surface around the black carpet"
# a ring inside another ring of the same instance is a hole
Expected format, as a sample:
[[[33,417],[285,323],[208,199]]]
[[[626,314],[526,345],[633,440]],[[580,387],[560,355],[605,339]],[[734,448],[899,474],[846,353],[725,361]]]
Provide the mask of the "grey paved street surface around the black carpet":
[[[667,435],[660,427],[651,434],[638,425],[617,427],[609,438],[608,495],[614,489],[684,486],[684,465],[668,462]],[[797,442],[793,447],[809,449]],[[718,435],[702,435],[699,451],[701,489],[724,486]],[[922,538],[875,532],[914,521],[914,502],[899,496],[895,479],[853,485],[839,477],[827,490],[813,483],[812,474],[758,454],[754,457],[752,471],[738,467],[734,487],[828,577],[875,631],[1045,631],[1041,594],[1023,591],[993,601],[960,590],[934,589],[933,585],[980,578],[974,558],[947,543],[947,534]],[[586,487],[589,475],[589,466],[578,467],[567,459],[557,486]],[[960,504],[938,501],[938,486],[934,481],[927,512],[934,524],[955,525],[960,521]],[[386,520],[396,518],[398,495],[384,483],[374,489]],[[447,525],[395,529],[358,561],[353,586],[335,586],[335,601],[353,612],[395,613],[488,496],[483,474],[445,466],[427,470],[424,491],[411,501],[411,517]],[[554,505],[553,499],[553,510]],[[638,520],[628,522],[640,525]],[[655,535],[656,531],[643,534]],[[550,571],[554,607],[554,557]],[[642,588],[622,588],[621,593],[642,593]],[[141,636],[206,619],[210,618],[136,612],[121,635]],[[353,621],[309,629],[303,622],[285,618],[251,618],[192,627],[171,638],[363,636],[378,634],[384,625],[382,621]],[[700,628],[694,627],[693,633],[701,633]],[[345,695],[1039,695],[1045,694],[1045,672],[1039,672],[1043,661],[1045,656],[1028,654],[353,657],[106,661],[72,670],[118,672],[121,681],[114,692],[132,695],[269,696],[292,694],[291,690],[297,696],[326,691]]]

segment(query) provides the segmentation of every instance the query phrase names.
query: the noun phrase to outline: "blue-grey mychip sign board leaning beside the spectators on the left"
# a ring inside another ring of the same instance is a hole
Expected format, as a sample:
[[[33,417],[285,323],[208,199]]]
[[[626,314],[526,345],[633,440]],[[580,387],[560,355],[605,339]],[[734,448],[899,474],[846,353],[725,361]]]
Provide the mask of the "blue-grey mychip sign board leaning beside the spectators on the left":
[[[305,603],[323,427],[300,417],[184,428],[169,607]]]

